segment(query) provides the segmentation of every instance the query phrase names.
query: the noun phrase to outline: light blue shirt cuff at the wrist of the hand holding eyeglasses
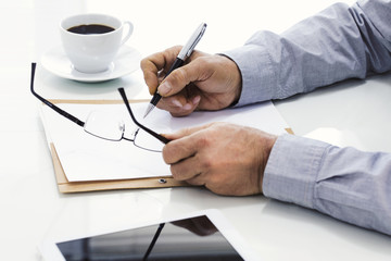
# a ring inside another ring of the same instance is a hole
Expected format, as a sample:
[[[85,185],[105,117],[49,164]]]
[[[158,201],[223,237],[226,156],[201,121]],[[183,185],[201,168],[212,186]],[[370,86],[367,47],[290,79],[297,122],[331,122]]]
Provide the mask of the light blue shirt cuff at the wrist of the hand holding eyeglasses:
[[[278,137],[265,167],[263,194],[313,209],[315,181],[329,146],[294,135]]]

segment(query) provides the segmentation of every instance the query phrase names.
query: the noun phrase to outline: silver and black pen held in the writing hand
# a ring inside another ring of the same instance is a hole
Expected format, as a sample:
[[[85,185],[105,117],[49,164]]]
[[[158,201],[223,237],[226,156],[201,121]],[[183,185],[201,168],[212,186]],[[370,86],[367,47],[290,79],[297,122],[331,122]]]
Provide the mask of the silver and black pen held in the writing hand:
[[[184,65],[186,59],[191,55],[191,53],[194,50],[197,44],[201,40],[205,29],[206,29],[206,24],[205,23],[202,23],[197,28],[197,30],[192,34],[192,36],[190,37],[188,42],[180,50],[179,54],[175,59],[174,64],[171,66],[169,71],[167,72],[165,77],[167,77],[174,70],[176,70],[176,69],[180,67],[181,65]],[[156,89],[156,92],[153,95],[150,103],[148,104],[148,108],[147,108],[147,111],[146,111],[143,117],[146,117],[156,107],[156,104],[157,104],[157,102],[160,101],[161,98],[162,98],[162,96],[159,94],[159,91]]]

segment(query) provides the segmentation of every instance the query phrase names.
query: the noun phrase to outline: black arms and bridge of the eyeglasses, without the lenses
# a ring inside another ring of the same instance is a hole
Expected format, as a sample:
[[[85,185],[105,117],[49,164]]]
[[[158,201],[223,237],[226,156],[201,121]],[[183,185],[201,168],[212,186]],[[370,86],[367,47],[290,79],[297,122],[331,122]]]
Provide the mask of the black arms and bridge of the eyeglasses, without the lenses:
[[[77,125],[84,127],[85,125],[85,122],[80,121],[79,119],[77,119],[76,116],[67,113],[66,111],[60,109],[59,107],[54,105],[52,102],[48,101],[47,99],[45,99],[43,97],[41,97],[40,95],[38,95],[35,90],[34,90],[34,79],[35,79],[35,72],[36,72],[36,66],[37,66],[37,63],[33,62],[31,63],[31,78],[30,78],[30,91],[31,94],[38,98],[40,101],[42,101],[45,104],[47,104],[48,107],[50,107],[51,109],[53,109],[55,112],[58,112],[59,114],[63,115],[64,117],[68,119],[70,121],[76,123]],[[160,141],[162,141],[163,144],[168,144],[171,140],[165,138],[164,136],[153,132],[152,129],[146,127],[144,125],[140,124],[133,111],[131,111],[131,108],[130,108],[130,104],[129,104],[129,101],[126,97],[126,94],[125,94],[125,89],[123,87],[118,88],[118,91],[119,91],[119,95],[122,97],[122,99],[124,100],[124,103],[130,114],[130,117],[131,120],[134,121],[134,123],[141,129],[143,129],[144,132],[149,133],[150,135],[152,135],[153,137],[155,137],[156,139],[159,139]],[[122,137],[122,139],[126,139],[126,140],[129,140],[129,141],[134,141],[131,139],[128,139],[126,137]]]

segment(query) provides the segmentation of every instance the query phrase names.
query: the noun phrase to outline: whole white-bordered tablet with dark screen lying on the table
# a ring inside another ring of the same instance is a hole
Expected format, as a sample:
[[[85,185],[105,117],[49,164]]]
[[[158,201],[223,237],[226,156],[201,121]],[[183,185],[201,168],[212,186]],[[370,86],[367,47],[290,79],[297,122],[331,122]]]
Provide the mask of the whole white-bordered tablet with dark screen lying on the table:
[[[46,239],[39,248],[43,260],[50,261],[255,260],[248,244],[217,210],[103,234]]]

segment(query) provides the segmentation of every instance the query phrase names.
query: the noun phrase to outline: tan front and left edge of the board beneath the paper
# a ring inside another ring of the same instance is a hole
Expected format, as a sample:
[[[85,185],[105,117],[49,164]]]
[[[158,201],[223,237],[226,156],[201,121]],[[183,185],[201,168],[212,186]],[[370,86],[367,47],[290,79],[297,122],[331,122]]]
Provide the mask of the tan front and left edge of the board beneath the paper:
[[[191,186],[185,182],[175,181],[169,176],[133,178],[133,179],[115,179],[115,181],[97,181],[97,182],[68,182],[64,169],[61,165],[60,158],[55,151],[54,144],[50,144],[50,152],[53,160],[55,179],[60,192],[86,192],[98,190],[115,190],[115,189],[137,189],[137,188],[166,188],[166,187],[184,187]]]

